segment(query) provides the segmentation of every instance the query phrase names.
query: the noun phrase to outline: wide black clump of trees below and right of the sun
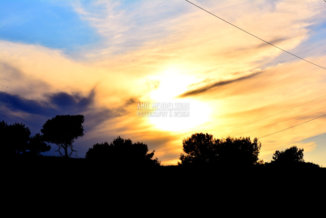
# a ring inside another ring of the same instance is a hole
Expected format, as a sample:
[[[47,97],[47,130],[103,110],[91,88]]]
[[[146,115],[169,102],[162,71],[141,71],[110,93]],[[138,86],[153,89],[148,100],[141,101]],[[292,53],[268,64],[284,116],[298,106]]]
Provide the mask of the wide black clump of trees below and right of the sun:
[[[182,141],[181,163],[178,164],[241,164],[251,165],[258,161],[261,143],[250,137],[215,139],[211,134],[195,133]]]

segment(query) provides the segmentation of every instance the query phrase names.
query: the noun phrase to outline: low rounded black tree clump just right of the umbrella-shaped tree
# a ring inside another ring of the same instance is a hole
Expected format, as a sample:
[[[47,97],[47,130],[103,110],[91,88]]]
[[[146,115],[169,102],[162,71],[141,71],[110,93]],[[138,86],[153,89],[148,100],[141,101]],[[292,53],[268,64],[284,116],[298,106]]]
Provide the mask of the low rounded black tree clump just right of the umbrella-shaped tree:
[[[105,161],[112,165],[131,166],[151,165],[159,166],[160,161],[152,159],[154,152],[147,153],[147,144],[132,143],[130,139],[122,139],[120,136],[113,140],[110,144],[96,143],[86,152],[86,159]]]

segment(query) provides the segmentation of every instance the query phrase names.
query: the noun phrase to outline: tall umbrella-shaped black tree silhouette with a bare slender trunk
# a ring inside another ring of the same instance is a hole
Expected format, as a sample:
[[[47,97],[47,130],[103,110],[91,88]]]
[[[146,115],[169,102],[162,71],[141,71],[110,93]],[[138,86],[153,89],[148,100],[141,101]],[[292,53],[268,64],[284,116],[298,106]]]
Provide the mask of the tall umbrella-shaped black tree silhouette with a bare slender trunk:
[[[67,148],[72,149],[72,143],[75,139],[84,135],[83,122],[83,115],[57,115],[46,121],[41,132],[44,134],[43,137],[46,142],[59,145],[59,149],[60,146],[63,147],[67,158]]]

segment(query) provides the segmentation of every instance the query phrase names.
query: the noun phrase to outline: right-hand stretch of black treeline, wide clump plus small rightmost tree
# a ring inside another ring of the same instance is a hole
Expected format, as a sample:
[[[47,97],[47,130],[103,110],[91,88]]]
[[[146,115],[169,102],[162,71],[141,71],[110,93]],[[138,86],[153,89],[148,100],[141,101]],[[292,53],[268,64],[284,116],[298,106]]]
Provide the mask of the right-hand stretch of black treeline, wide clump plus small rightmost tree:
[[[250,137],[215,139],[211,134],[195,133],[183,140],[183,151],[178,165],[249,167],[260,166],[297,166],[316,168],[318,164],[304,161],[304,149],[295,145],[284,151],[276,150],[271,162],[259,160],[261,143]]]

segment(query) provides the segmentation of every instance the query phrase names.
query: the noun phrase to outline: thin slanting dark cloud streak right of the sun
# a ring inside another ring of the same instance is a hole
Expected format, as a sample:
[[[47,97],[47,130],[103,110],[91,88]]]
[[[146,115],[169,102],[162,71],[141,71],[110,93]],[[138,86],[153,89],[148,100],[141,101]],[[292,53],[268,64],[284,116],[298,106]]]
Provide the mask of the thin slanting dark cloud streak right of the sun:
[[[211,85],[208,85],[208,86],[205,86],[205,87],[201,87],[201,88],[196,89],[196,90],[185,92],[185,93],[179,95],[179,97],[182,97],[183,98],[183,97],[188,97],[188,96],[192,96],[192,95],[197,95],[197,94],[200,94],[200,93],[208,92],[208,91],[211,91],[212,89],[216,89],[216,88],[221,87],[221,86],[225,86],[225,85],[228,85],[228,84],[231,84],[231,83],[234,83],[234,82],[239,82],[239,81],[243,81],[243,80],[246,80],[246,79],[250,79],[250,78],[252,78],[254,76],[257,76],[257,75],[261,74],[262,72],[263,71],[259,71],[257,73],[253,73],[253,74],[250,74],[250,75],[242,76],[242,77],[239,77],[239,78],[236,78],[236,79],[230,79],[230,80],[216,82],[214,84],[211,84]]]

